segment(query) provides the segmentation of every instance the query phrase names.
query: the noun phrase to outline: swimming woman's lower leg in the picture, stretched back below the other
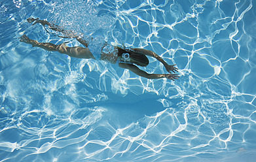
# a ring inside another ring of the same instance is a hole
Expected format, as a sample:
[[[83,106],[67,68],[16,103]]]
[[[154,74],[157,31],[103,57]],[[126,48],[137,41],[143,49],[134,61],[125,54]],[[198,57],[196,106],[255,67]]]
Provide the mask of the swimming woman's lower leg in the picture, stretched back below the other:
[[[81,46],[68,47],[65,44],[52,44],[50,42],[37,42],[37,40],[29,39],[26,35],[20,37],[20,42],[26,42],[32,46],[38,46],[48,51],[57,51],[62,54],[67,54],[70,57],[83,58],[83,59],[95,59],[88,48]]]

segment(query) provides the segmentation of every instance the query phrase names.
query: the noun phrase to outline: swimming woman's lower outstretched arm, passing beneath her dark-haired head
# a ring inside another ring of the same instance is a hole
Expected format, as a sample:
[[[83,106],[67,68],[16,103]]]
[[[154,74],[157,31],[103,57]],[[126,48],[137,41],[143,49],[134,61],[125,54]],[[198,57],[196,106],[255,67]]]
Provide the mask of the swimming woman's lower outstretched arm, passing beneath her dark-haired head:
[[[124,69],[129,69],[133,73],[148,79],[168,78],[170,80],[174,80],[179,78],[177,74],[148,74],[147,72],[139,69],[136,65],[128,64],[128,63],[119,63],[119,67],[122,67]]]

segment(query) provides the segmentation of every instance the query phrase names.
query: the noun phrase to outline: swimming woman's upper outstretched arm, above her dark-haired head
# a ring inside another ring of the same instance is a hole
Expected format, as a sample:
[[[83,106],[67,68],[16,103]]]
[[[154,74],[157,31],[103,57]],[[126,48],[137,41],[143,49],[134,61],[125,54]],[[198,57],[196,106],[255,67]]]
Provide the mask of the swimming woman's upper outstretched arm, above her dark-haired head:
[[[166,63],[166,61],[164,61],[164,59],[162,59],[162,57],[158,56],[158,54],[156,54],[155,52],[152,52],[151,50],[145,50],[143,48],[132,48],[132,50],[134,50],[135,52],[139,52],[141,54],[145,54],[146,56],[151,56],[151,57],[155,57],[158,61],[160,61],[164,67],[166,68],[166,71],[168,71],[169,73],[172,71],[175,73],[175,71],[177,71],[177,67],[174,67],[175,65],[168,65],[168,63]]]

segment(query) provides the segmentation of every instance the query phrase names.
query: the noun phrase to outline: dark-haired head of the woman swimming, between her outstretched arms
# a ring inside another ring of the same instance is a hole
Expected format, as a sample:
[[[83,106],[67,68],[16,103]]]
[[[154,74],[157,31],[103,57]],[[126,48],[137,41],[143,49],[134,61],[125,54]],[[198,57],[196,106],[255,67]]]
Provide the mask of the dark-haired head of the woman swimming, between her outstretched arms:
[[[119,57],[124,62],[135,63],[141,67],[146,67],[149,65],[149,59],[144,54],[140,52],[135,52],[134,50],[130,50],[128,48],[118,48]]]

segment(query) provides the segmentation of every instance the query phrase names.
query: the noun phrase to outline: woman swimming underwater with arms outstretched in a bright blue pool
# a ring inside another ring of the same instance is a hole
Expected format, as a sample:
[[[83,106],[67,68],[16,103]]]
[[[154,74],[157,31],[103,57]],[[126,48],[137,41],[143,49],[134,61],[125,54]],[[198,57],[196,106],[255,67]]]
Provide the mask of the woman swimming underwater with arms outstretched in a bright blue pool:
[[[76,38],[85,46],[85,48],[81,46],[68,47],[65,46],[65,43],[56,45],[50,42],[37,42],[37,40],[29,39],[26,35],[20,37],[21,42],[26,42],[27,44],[38,46],[48,51],[57,51],[62,54],[67,54],[70,57],[108,61],[113,64],[118,64],[119,67],[129,69],[133,73],[148,79],[168,78],[170,80],[174,80],[179,78],[177,74],[171,74],[171,72],[175,73],[175,71],[178,70],[176,67],[174,67],[175,65],[168,65],[168,63],[166,63],[162,57],[158,56],[151,50],[145,50],[143,48],[120,48],[118,46],[111,46],[110,44],[103,44],[103,46],[95,47],[94,44],[90,44],[86,40],[82,39],[82,37],[73,34],[72,31],[65,31],[58,25],[50,24],[46,20],[39,20],[39,18],[28,18],[27,22],[29,22],[29,24],[34,22],[33,25],[39,23],[44,27],[47,25],[49,29],[66,35],[64,36],[65,38]],[[149,65],[149,59],[147,56],[155,57],[158,61],[160,61],[169,74],[148,74],[139,69],[136,65],[141,67],[146,67]]]

